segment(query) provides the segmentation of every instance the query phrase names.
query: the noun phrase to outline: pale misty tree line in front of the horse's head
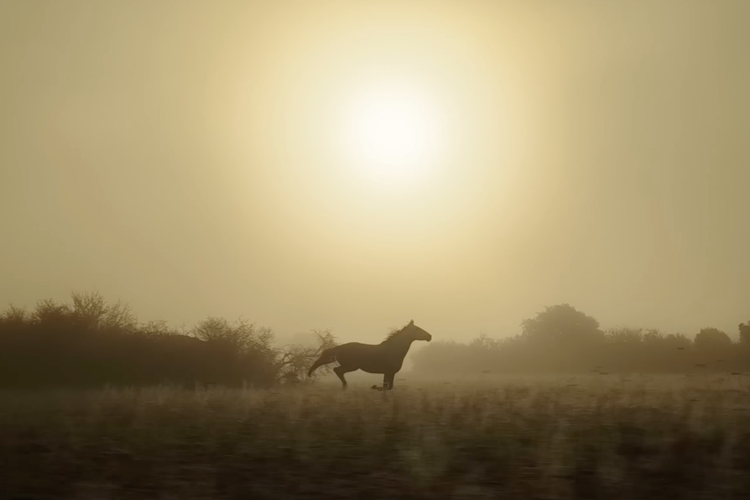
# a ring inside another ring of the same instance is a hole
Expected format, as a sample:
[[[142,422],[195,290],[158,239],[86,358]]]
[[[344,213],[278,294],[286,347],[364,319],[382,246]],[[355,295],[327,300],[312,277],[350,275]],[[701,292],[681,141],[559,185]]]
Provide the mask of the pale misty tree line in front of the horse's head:
[[[432,342],[416,352],[413,369],[425,374],[686,373],[750,371],[750,321],[737,342],[716,328],[693,338],[647,328],[603,330],[569,304],[547,307],[521,323],[521,333],[468,343]]]

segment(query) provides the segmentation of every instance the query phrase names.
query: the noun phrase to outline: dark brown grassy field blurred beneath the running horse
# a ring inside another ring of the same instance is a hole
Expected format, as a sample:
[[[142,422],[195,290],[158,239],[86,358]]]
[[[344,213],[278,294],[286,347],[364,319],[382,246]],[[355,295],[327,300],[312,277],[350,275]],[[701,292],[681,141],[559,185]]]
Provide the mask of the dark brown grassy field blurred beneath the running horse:
[[[750,498],[749,389],[609,375],[5,392],[0,497]]]

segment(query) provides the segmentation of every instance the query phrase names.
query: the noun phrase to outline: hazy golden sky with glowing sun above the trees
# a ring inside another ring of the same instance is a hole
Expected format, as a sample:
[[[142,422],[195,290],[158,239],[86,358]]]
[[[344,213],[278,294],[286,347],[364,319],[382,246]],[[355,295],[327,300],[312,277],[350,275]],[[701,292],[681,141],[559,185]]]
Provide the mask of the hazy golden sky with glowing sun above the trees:
[[[0,306],[96,289],[374,341],[567,302],[736,337],[748,26],[747,0],[0,1]]]

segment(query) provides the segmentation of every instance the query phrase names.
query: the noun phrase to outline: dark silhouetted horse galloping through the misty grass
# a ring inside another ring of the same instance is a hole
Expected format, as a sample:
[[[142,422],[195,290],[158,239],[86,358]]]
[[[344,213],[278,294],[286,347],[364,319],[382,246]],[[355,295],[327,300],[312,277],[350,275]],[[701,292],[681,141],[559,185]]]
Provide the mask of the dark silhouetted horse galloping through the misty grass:
[[[350,342],[331,347],[323,351],[318,360],[310,367],[307,376],[312,375],[320,365],[339,362],[339,366],[333,371],[341,379],[346,389],[345,373],[362,370],[367,373],[382,373],[383,387],[372,386],[373,389],[387,391],[393,389],[393,377],[401,369],[404,357],[415,340],[432,340],[432,335],[422,330],[411,320],[408,325],[400,330],[394,330],[380,344],[360,344]]]

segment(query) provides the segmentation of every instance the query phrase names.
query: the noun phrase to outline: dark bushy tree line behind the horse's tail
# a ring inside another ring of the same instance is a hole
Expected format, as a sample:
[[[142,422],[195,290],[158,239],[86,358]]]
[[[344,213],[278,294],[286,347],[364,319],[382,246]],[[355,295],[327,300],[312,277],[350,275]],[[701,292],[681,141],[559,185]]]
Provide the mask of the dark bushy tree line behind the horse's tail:
[[[190,330],[139,322],[130,307],[101,294],[73,293],[70,303],[39,302],[0,314],[0,388],[175,384],[269,387],[295,383],[335,344],[274,344],[268,328],[209,317]]]

